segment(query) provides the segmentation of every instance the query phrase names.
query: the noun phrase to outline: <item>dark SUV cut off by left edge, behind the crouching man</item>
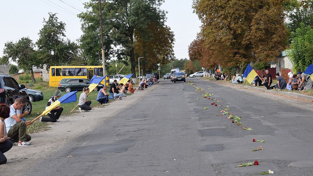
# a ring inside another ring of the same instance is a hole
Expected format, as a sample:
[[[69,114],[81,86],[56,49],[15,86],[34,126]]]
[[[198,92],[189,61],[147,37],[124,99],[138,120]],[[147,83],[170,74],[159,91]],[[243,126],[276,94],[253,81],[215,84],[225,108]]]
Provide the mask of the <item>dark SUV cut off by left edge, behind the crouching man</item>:
[[[23,111],[27,110],[28,114],[32,112],[32,103],[29,101],[28,94],[25,90],[25,85],[18,85],[16,80],[7,74],[0,74],[0,103],[6,103],[11,106],[16,98],[24,96],[26,104]]]

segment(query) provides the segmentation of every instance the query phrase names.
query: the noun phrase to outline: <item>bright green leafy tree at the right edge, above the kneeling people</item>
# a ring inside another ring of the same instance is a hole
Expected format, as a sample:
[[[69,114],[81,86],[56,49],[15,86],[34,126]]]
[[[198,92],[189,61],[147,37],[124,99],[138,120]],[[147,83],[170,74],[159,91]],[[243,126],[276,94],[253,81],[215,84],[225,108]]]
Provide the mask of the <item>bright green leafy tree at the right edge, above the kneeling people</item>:
[[[300,24],[300,28],[292,33],[290,50],[287,51],[288,57],[293,64],[293,70],[305,71],[313,63],[313,28]]]

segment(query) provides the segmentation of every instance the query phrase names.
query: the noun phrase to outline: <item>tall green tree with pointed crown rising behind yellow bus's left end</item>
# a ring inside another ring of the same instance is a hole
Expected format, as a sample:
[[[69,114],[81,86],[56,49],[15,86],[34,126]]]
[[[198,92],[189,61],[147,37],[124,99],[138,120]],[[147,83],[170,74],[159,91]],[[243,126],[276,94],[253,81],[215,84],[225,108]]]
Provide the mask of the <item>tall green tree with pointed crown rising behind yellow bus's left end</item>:
[[[44,18],[44,26],[39,31],[39,39],[36,44],[39,50],[41,63],[51,65],[66,65],[77,59],[78,45],[66,36],[65,23],[58,21],[56,13],[49,13],[49,18]]]

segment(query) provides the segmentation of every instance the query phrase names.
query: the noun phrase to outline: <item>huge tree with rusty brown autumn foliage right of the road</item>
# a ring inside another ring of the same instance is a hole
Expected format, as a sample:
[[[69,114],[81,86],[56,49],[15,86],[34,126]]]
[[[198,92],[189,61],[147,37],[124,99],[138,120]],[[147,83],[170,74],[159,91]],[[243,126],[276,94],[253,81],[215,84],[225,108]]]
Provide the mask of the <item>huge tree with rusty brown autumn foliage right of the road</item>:
[[[239,67],[274,61],[288,44],[284,17],[290,1],[194,0],[192,7],[203,24],[198,39],[206,57],[201,63]]]

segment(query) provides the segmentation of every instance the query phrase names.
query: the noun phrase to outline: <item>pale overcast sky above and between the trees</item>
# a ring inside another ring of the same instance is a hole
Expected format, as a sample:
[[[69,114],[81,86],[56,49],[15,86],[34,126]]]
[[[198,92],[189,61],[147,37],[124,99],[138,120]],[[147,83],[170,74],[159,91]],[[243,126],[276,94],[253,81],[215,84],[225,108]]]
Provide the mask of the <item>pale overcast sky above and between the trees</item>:
[[[4,44],[29,37],[34,42],[42,28],[43,18],[48,12],[58,13],[60,21],[66,23],[65,35],[70,40],[78,39],[82,32],[80,19],[76,14],[84,10],[85,0],[30,0],[0,1],[0,56]],[[68,5],[67,5],[68,4]],[[70,6],[72,7],[70,7]],[[177,59],[188,58],[188,45],[200,30],[200,21],[192,13],[192,0],[165,0],[162,9],[167,13],[167,25],[175,34],[174,52]]]

